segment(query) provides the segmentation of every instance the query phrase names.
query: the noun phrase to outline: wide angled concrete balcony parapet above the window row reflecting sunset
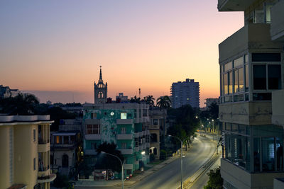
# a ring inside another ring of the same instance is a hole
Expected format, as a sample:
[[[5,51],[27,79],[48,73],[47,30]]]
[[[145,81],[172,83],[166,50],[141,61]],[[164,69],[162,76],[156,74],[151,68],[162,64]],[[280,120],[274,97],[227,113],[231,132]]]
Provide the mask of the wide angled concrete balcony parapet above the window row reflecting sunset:
[[[219,62],[227,61],[245,50],[283,49],[280,42],[271,41],[270,24],[251,23],[219,44]]]

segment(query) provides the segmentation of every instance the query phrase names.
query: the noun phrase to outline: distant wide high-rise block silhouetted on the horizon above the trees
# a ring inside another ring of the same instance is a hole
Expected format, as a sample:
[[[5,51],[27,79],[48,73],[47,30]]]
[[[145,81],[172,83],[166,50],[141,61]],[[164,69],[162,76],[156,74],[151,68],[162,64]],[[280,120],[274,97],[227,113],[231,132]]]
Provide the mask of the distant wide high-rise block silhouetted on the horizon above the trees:
[[[182,105],[191,105],[192,108],[200,107],[200,83],[194,79],[173,83],[170,88],[170,100],[173,108],[179,108]]]

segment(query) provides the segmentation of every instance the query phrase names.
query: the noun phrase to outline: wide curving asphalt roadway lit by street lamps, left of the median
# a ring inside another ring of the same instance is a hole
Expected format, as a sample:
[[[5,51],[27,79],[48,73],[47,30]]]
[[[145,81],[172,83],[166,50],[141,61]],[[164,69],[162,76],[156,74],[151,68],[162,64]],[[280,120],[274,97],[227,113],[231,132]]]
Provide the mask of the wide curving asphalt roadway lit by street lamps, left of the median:
[[[192,176],[205,162],[214,154],[216,143],[206,137],[197,137],[192,143],[192,148],[187,152],[183,159],[183,181]],[[153,173],[151,176],[144,178],[131,188],[135,189],[176,189],[180,186],[180,159],[173,161]],[[129,188],[129,187],[127,187]]]

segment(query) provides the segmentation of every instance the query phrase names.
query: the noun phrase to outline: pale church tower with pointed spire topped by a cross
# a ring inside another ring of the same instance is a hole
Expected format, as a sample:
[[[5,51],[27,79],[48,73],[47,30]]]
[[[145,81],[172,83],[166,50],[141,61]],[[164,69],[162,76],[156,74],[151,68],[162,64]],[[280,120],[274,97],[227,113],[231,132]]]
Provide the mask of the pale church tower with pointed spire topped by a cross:
[[[99,68],[99,81],[98,84],[94,82],[94,103],[107,102],[107,82],[104,84],[102,80],[102,67]]]

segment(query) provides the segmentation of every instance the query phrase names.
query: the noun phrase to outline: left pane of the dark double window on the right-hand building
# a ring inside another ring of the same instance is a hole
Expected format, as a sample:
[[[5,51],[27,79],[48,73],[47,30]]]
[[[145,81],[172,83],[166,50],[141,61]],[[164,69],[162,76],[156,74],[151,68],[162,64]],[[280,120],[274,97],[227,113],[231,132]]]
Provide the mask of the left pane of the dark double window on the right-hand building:
[[[253,89],[266,89],[266,65],[253,65]]]

